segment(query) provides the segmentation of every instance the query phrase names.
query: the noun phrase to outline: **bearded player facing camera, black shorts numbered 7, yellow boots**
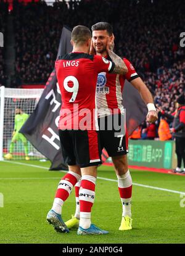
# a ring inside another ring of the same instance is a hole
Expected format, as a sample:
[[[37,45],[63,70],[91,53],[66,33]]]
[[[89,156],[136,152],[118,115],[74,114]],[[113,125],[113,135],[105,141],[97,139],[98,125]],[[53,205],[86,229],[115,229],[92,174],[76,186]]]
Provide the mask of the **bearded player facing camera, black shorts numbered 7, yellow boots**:
[[[113,30],[107,22],[98,22],[92,25],[92,47],[91,54],[102,56],[115,62],[118,56],[113,55],[112,51],[107,50],[107,36],[112,40],[110,48],[113,51]],[[130,81],[148,107],[147,121],[155,122],[157,112],[154,101],[149,89],[139,77],[133,65],[128,59],[123,58],[128,72],[123,75],[101,72],[97,79],[96,104],[98,109],[99,136],[101,148],[105,148],[109,157],[112,157],[113,167],[118,179],[118,191],[122,204],[122,218],[120,231],[132,229],[131,218],[131,197],[132,197],[132,178],[128,170],[128,136],[126,133],[125,118],[126,113],[122,105],[122,92],[125,79]],[[129,99],[128,99],[129,101]],[[111,127],[111,129],[110,129]],[[79,202],[80,181],[75,186],[76,210],[75,215],[65,224],[70,229],[78,228],[80,218]]]

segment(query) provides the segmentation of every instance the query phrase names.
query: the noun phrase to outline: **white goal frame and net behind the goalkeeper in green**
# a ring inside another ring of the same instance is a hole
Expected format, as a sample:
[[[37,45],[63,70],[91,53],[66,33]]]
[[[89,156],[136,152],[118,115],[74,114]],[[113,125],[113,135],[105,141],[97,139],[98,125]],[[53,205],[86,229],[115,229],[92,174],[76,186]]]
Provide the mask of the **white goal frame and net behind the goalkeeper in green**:
[[[42,93],[43,89],[0,87],[0,160],[45,158],[23,134],[14,131],[15,122],[20,130],[28,115],[35,110]],[[24,115],[24,119],[22,114],[17,114],[15,121],[15,109],[28,115]]]

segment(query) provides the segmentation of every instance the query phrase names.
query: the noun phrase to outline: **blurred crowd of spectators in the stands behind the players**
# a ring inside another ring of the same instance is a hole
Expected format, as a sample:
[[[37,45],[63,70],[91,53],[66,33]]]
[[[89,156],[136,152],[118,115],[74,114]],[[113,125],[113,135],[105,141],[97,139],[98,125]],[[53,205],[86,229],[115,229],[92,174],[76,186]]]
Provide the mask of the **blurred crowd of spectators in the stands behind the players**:
[[[0,31],[6,38],[7,5],[0,0]],[[179,46],[184,31],[183,0],[81,0],[27,5],[14,2],[15,75],[11,86],[46,83],[54,68],[63,25],[89,28],[99,21],[113,26],[115,52],[136,68],[157,107],[168,114],[185,90],[185,47]],[[0,47],[0,85],[6,85],[4,50]],[[156,124],[142,124],[141,138],[158,138]],[[169,122],[170,123],[170,122]]]

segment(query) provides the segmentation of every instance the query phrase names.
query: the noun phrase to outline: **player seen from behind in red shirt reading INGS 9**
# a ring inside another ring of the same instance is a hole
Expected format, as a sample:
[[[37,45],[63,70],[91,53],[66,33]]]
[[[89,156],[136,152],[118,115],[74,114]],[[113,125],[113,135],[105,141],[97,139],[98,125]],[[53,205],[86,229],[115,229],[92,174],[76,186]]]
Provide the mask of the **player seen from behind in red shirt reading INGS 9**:
[[[107,51],[112,42],[109,40]],[[102,56],[89,55],[91,31],[76,26],[72,31],[73,51],[55,62],[57,80],[62,97],[59,137],[68,173],[60,180],[47,221],[56,231],[68,233],[62,220],[62,205],[80,180],[80,225],[77,234],[107,234],[91,224],[91,208],[95,197],[97,165],[101,163],[99,126],[97,125],[96,82],[101,72],[125,74],[128,69],[118,57],[116,62]]]

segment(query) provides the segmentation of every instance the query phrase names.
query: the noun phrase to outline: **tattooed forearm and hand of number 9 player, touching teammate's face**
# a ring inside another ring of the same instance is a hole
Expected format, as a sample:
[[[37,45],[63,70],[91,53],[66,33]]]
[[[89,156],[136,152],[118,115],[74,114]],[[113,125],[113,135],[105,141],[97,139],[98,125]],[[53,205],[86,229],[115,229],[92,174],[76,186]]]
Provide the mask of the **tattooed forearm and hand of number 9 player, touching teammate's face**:
[[[128,72],[128,68],[126,67],[123,59],[121,59],[119,56],[117,56],[117,54],[113,52],[113,48],[114,48],[113,40],[114,40],[114,36],[112,37],[112,39],[107,37],[107,52],[115,64],[115,67],[113,68],[111,73],[125,75]]]

